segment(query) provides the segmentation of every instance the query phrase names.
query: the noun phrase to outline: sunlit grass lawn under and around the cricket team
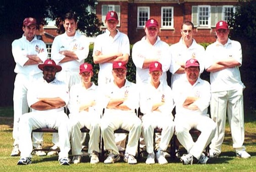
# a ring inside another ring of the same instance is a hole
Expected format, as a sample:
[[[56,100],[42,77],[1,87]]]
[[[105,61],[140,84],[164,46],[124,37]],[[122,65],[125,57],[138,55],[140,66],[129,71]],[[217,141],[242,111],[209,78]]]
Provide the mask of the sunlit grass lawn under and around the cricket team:
[[[232,138],[229,130],[229,126],[226,127],[226,134],[224,144],[222,147],[222,153],[218,159],[211,159],[209,164],[193,164],[184,166],[178,159],[168,159],[167,165],[146,165],[145,159],[139,161],[136,165],[128,165],[127,163],[120,161],[114,164],[104,164],[100,162],[96,165],[88,163],[89,158],[83,158],[82,163],[78,165],[71,164],[70,166],[60,166],[57,156],[45,156],[32,158],[32,164],[28,166],[17,166],[16,162],[19,157],[11,157],[12,149],[12,108],[0,108],[0,172],[169,172],[169,171],[256,171],[256,119],[255,112],[245,117],[245,146],[247,152],[251,154],[249,159],[241,159],[235,157],[235,152],[232,148]],[[45,145],[51,144],[51,134],[44,135]]]

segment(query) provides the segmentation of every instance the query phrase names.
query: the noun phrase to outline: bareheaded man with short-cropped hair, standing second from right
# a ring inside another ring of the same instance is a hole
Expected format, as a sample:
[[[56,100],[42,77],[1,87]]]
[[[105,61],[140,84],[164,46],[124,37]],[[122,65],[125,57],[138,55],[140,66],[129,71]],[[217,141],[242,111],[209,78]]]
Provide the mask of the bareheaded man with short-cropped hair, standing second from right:
[[[185,21],[181,25],[181,40],[170,46],[171,66],[169,71],[172,73],[171,86],[174,81],[181,77],[186,77],[185,63],[191,58],[195,58],[200,62],[200,74],[203,73],[203,57],[205,51],[203,46],[197,44],[196,40],[193,39],[193,35],[193,23]]]

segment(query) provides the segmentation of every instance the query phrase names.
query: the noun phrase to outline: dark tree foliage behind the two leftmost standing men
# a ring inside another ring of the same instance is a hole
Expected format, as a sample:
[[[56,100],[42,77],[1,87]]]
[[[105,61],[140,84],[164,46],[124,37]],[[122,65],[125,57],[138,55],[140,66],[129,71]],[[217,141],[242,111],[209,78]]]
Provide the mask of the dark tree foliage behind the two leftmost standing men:
[[[88,11],[95,8],[95,0],[1,0],[0,1],[0,36],[22,34],[22,21],[34,17],[39,25],[46,24],[45,18],[56,20],[58,32],[63,33],[61,17],[74,11],[78,16],[78,29],[87,36],[100,33],[101,22],[96,14]]]

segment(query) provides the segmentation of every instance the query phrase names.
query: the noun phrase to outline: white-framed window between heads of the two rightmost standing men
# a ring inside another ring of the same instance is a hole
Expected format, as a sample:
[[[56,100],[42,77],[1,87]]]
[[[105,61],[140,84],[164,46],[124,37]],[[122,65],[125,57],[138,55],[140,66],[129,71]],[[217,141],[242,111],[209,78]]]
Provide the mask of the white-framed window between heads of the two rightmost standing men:
[[[200,27],[207,27],[210,24],[210,6],[198,6],[198,20]]]

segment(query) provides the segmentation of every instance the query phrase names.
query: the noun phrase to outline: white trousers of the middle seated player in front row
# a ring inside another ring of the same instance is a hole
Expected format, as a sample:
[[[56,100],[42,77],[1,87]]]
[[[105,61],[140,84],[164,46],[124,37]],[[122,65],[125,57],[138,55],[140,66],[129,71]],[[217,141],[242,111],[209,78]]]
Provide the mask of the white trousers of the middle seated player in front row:
[[[141,120],[131,112],[104,113],[101,118],[101,134],[105,148],[114,154],[119,154],[114,136],[114,131],[119,128],[129,132],[125,153],[135,156],[141,134]]]

